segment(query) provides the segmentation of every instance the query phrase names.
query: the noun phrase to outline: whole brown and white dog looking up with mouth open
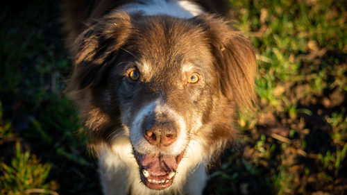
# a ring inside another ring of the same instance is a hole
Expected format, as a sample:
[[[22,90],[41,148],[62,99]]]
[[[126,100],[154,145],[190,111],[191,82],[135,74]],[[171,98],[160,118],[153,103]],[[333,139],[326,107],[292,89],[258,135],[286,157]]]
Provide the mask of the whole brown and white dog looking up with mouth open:
[[[223,1],[66,1],[68,89],[104,194],[202,194],[255,99],[251,43]]]

